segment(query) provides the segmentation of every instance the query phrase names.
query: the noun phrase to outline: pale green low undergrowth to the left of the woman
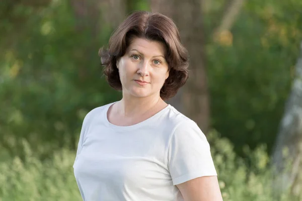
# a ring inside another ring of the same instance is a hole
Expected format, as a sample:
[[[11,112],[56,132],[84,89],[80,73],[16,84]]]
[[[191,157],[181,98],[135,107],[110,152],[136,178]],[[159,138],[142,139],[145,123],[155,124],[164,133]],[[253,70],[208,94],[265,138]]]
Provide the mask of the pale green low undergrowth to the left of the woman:
[[[42,162],[27,141],[22,142],[24,161],[15,157],[0,162],[1,201],[82,199],[73,176],[73,152],[63,148]]]

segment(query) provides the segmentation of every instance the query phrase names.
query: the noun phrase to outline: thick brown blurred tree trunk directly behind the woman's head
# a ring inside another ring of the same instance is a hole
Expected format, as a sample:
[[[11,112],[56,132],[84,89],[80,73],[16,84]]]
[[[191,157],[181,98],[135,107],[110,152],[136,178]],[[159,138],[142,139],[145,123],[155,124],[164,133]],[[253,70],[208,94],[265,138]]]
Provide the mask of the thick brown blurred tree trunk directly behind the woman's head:
[[[153,12],[171,17],[177,24],[182,42],[189,51],[189,79],[179,94],[172,98],[180,112],[194,120],[204,133],[209,127],[209,93],[205,68],[203,20],[200,0],[152,0]]]

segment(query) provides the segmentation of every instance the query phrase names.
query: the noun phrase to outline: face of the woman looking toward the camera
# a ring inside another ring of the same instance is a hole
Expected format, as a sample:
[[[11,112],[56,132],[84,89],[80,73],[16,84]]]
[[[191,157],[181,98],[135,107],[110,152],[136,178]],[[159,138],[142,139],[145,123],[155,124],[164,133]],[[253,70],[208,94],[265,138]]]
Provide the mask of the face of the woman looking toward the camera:
[[[123,95],[147,97],[158,95],[169,76],[165,60],[165,46],[161,42],[134,38],[116,66]]]

